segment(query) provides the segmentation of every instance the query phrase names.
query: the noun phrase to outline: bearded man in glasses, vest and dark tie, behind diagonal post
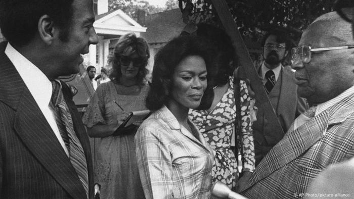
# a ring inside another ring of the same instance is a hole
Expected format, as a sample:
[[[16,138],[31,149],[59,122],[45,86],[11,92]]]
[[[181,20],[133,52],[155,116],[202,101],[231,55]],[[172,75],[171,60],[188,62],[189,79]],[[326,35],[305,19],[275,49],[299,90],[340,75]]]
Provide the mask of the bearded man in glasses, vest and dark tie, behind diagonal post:
[[[289,66],[284,67],[282,64],[290,51],[290,38],[283,31],[273,30],[263,37],[261,44],[264,61],[258,72],[283,131],[286,132],[294,119],[306,109],[305,100],[297,97],[296,84],[292,81],[294,73]],[[257,166],[283,138],[284,133],[278,132],[273,124],[267,122],[262,106],[258,106],[257,121],[252,128]]]

